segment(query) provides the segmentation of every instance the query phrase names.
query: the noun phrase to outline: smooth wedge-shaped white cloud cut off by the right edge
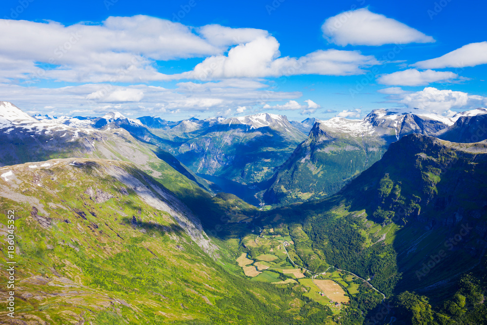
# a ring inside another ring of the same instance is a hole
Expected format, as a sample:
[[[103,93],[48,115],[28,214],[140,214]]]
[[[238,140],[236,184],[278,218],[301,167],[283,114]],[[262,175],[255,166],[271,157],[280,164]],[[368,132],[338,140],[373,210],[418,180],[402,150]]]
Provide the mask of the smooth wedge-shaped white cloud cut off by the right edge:
[[[470,43],[441,57],[419,61],[412,66],[422,69],[474,67],[487,63],[487,41]]]

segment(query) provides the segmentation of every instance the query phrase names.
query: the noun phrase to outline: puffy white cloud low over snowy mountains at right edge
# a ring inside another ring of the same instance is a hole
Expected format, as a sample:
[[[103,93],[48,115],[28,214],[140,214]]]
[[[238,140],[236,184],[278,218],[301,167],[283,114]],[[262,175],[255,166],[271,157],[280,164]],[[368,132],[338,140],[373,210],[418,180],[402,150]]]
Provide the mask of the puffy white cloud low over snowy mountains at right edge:
[[[431,113],[449,115],[451,110],[467,111],[487,105],[487,97],[468,95],[468,93],[439,90],[426,87],[419,92],[406,92],[387,97],[389,102],[403,104],[412,109],[419,108]]]

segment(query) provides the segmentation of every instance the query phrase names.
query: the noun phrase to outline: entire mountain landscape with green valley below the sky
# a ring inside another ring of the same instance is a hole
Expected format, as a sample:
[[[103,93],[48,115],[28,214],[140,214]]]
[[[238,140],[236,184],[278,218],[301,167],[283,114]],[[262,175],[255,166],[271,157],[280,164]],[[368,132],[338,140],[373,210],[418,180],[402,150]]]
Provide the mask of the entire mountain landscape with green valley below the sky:
[[[486,118],[170,122],[0,102],[17,320],[485,324]]]

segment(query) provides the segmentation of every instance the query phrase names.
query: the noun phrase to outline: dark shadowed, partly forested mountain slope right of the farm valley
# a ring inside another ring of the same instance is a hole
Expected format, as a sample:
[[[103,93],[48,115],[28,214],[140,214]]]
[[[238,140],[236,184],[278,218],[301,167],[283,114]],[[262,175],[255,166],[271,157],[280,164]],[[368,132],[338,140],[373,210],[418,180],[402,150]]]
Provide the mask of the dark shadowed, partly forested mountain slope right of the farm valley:
[[[486,142],[407,135],[336,195],[271,210],[261,227],[289,235],[290,254],[312,271],[336,266],[388,297],[415,291],[438,307],[464,274],[485,272],[486,173]]]

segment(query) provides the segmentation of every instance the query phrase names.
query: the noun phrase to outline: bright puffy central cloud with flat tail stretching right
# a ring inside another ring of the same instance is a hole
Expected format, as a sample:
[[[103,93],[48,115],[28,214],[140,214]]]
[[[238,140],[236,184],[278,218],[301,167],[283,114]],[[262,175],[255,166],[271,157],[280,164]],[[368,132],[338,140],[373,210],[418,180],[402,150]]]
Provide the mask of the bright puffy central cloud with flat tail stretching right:
[[[318,50],[303,57],[280,57],[274,37],[259,37],[233,47],[227,56],[212,56],[179,77],[200,80],[219,78],[259,78],[268,76],[364,74],[363,68],[380,64],[374,56],[358,51]]]

